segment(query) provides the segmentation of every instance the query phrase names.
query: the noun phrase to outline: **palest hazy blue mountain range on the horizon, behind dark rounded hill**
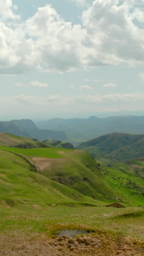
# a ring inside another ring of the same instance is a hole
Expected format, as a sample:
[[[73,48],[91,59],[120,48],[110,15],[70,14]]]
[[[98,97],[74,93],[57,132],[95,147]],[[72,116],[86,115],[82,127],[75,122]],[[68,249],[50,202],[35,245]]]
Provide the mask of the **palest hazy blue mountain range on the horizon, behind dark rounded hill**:
[[[144,134],[144,116],[90,117],[88,119],[53,118],[37,125],[40,129],[64,131],[68,136],[68,141],[75,145],[113,132]]]

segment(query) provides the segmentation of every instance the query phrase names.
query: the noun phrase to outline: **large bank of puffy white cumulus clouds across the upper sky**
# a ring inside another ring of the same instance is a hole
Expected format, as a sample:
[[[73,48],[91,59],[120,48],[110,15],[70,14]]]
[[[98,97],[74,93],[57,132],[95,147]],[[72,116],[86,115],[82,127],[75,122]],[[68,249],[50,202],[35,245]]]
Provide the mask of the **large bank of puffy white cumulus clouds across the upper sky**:
[[[0,73],[144,64],[143,0],[76,2],[89,4],[82,11],[81,23],[73,25],[50,4],[21,21],[13,2],[1,0]]]

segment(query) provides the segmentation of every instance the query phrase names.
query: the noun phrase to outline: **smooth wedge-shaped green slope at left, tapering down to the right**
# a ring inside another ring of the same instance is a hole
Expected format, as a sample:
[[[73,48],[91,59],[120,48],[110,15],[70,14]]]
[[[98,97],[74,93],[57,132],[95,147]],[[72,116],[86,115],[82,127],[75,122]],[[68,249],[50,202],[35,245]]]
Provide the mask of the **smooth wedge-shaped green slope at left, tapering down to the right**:
[[[0,166],[1,206],[26,208],[34,205],[46,207],[51,203],[98,203],[39,173],[29,171],[29,164],[13,153],[0,150]]]

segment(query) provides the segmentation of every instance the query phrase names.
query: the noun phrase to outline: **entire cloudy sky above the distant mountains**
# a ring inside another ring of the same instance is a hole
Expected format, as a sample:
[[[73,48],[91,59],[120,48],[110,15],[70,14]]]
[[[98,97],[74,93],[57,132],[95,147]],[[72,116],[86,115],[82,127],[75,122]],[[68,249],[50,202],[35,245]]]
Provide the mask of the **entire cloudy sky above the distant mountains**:
[[[0,120],[144,115],[144,0],[0,0]]]

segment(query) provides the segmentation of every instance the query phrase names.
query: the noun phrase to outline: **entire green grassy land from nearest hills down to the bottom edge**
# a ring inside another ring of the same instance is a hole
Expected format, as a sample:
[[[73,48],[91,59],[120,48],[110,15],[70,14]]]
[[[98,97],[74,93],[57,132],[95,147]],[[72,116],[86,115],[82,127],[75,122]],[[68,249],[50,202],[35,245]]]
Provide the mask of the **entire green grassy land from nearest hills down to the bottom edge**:
[[[83,150],[1,146],[0,254],[142,255],[143,160],[103,168]]]

